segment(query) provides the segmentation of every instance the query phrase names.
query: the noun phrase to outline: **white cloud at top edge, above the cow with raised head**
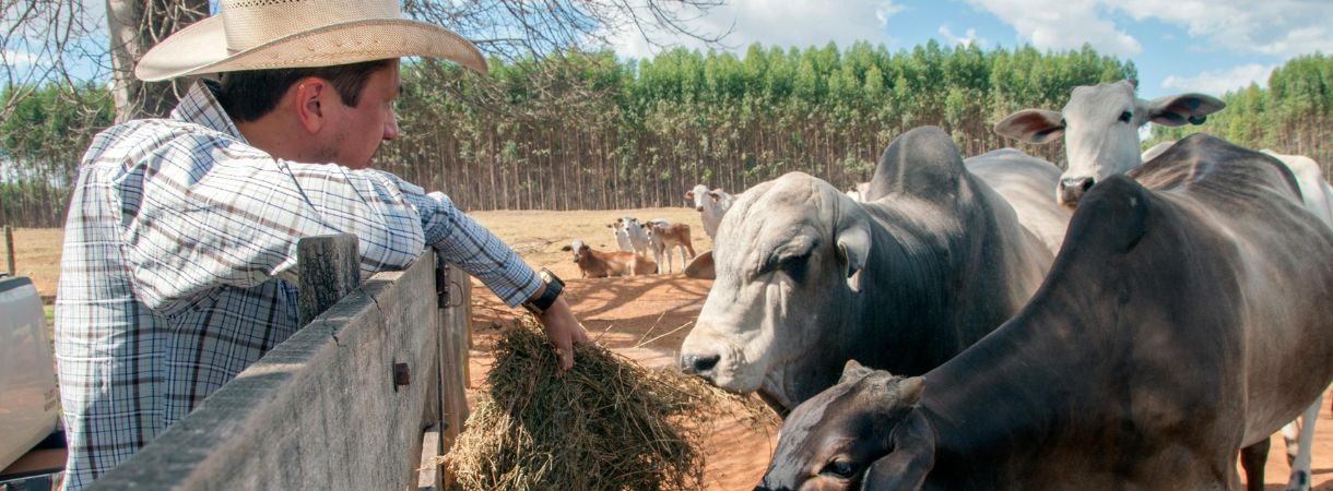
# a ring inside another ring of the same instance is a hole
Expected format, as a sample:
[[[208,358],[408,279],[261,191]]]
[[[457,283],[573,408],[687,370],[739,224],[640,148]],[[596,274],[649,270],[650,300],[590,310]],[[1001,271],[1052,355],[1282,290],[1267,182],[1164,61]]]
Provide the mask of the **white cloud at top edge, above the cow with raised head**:
[[[1133,36],[1102,19],[1106,0],[968,0],[1018,32],[1018,40],[1038,49],[1077,49],[1085,43],[1117,56],[1142,51]]]

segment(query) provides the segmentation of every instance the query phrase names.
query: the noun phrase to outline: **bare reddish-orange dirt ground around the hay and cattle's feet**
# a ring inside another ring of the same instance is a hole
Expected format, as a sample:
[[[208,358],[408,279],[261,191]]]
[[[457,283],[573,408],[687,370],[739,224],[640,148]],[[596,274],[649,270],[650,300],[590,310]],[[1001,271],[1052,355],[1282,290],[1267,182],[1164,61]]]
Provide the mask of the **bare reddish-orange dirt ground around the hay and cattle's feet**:
[[[599,343],[651,367],[674,366],[680,345],[693,327],[712,286],[712,281],[689,279],[680,274],[577,279],[579,273],[568,261],[547,267],[563,278],[575,278],[567,279],[568,299]],[[480,387],[492,361],[491,347],[497,333],[492,322],[508,323],[516,311],[480,283],[473,282],[473,291],[471,377],[473,387]],[[471,395],[469,391],[469,399]],[[1316,430],[1313,484],[1316,490],[1333,491],[1333,416],[1328,397]],[[706,448],[704,474],[708,490],[752,490],[768,466],[777,443],[777,428],[765,434],[742,424],[720,427],[726,430],[713,435]],[[1272,448],[1266,490],[1284,490],[1288,466],[1281,436],[1274,436]]]

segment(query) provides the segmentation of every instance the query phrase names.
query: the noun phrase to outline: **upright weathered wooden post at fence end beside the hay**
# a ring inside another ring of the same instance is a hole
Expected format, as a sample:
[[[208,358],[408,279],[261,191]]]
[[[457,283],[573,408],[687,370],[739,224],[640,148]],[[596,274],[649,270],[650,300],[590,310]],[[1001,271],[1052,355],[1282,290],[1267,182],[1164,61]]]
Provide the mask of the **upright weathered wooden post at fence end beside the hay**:
[[[436,294],[440,307],[440,438],[439,455],[453,448],[453,442],[468,420],[468,345],[472,335],[472,279],[457,266],[437,266]],[[436,488],[447,490],[453,479],[447,468],[436,470]]]

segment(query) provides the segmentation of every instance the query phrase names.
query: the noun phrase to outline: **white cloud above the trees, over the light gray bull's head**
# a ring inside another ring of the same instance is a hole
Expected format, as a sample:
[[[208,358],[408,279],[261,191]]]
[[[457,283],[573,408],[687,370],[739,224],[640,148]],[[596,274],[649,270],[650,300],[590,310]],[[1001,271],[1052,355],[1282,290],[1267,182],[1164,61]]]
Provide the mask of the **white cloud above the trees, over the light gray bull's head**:
[[[856,41],[890,44],[885,31],[889,17],[905,7],[896,0],[733,0],[718,5],[688,23],[701,35],[729,35],[722,44],[744,52],[753,43],[781,47],[822,47],[829,41],[838,48]],[[651,35],[652,36],[652,35]],[[698,40],[670,35],[652,36],[659,44],[702,48]],[[653,47],[635,29],[611,33],[612,48],[620,56],[651,57]]]

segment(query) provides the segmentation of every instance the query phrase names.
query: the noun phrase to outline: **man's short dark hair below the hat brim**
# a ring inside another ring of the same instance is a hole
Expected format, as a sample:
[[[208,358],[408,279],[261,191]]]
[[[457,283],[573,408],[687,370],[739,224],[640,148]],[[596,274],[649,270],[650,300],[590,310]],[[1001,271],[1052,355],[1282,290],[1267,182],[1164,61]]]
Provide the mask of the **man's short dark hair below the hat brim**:
[[[255,121],[273,110],[287,89],[297,80],[320,77],[333,85],[343,104],[356,106],[361,101],[361,89],[371,80],[371,75],[389,68],[392,63],[393,60],[388,59],[335,67],[225,72],[217,101],[232,120]]]

